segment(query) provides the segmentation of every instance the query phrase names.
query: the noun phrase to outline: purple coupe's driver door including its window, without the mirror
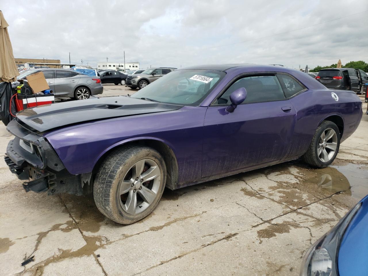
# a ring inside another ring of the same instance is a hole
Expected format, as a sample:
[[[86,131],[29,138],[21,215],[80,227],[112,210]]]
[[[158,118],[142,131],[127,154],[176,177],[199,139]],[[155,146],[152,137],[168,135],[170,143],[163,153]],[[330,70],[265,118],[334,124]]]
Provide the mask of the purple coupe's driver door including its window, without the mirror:
[[[247,98],[226,112],[230,94],[241,87]],[[286,152],[295,115],[276,75],[240,77],[207,109],[202,177],[277,163]]]

